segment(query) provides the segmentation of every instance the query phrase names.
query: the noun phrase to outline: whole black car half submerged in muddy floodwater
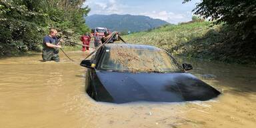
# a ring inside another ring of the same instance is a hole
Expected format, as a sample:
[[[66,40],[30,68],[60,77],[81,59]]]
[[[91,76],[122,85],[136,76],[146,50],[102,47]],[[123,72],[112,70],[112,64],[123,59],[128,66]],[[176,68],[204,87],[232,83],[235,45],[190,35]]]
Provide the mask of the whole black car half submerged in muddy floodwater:
[[[220,92],[187,73],[193,67],[177,61],[163,49],[127,43],[106,44],[90,60],[85,88],[96,101],[206,101]]]

